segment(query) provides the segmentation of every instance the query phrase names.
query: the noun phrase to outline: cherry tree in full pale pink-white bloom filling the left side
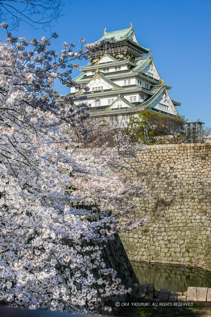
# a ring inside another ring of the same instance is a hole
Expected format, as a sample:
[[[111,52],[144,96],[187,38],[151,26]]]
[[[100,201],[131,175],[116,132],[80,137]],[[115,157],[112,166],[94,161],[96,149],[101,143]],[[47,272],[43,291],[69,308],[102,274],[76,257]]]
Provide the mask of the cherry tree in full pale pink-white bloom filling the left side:
[[[71,80],[75,62],[106,43],[74,51],[64,42],[58,56],[45,37],[27,42],[7,32],[7,42],[0,43],[0,301],[96,312],[104,297],[127,292],[98,242],[142,226],[147,218],[129,214],[134,198],[147,194],[123,177],[125,145],[117,151],[97,142],[108,126],[87,121],[86,96],[76,106],[74,96],[59,98],[54,82],[78,85]],[[71,207],[77,201],[95,202],[100,211]],[[84,219],[88,213],[95,221]]]

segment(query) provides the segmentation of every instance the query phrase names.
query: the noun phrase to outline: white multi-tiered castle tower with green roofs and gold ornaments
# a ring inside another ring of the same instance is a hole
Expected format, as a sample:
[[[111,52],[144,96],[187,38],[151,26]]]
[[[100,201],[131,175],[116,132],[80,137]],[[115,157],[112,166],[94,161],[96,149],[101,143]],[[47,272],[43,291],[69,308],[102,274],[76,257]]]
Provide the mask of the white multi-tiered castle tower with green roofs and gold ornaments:
[[[87,95],[91,116],[118,115],[126,119],[148,109],[181,118],[176,110],[181,102],[170,98],[171,86],[158,74],[150,49],[138,43],[132,23],[124,30],[105,29],[97,42],[101,40],[106,40],[107,48],[91,55],[88,65],[80,67],[82,73],[74,78],[79,85],[90,87],[89,92],[71,87],[71,95]]]

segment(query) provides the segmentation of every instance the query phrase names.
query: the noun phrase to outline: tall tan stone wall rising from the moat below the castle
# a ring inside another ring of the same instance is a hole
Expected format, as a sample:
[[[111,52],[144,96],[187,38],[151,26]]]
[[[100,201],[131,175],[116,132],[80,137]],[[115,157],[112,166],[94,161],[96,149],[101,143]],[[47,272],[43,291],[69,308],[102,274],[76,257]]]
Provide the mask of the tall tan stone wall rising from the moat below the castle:
[[[211,269],[211,144],[154,145],[138,155],[142,163],[126,176],[151,198],[137,198],[133,216],[150,221],[121,236],[129,259]]]

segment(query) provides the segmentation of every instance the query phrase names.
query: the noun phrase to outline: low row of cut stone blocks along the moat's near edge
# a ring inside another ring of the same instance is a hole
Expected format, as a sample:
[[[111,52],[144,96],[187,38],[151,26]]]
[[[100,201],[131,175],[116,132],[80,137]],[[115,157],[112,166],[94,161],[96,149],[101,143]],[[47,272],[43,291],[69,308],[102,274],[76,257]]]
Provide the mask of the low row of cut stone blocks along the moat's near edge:
[[[185,292],[171,292],[170,288],[156,290],[153,284],[132,284],[130,299],[158,301],[211,301],[211,288],[189,287]]]

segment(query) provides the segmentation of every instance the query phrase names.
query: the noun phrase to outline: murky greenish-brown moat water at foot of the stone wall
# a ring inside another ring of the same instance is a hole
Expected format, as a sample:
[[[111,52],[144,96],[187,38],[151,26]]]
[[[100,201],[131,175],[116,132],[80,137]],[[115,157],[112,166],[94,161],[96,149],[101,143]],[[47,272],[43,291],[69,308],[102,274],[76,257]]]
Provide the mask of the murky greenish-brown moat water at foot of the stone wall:
[[[170,287],[171,291],[185,292],[190,286],[211,288],[211,272],[202,268],[133,261],[131,265],[139,283],[153,283],[155,289]]]

